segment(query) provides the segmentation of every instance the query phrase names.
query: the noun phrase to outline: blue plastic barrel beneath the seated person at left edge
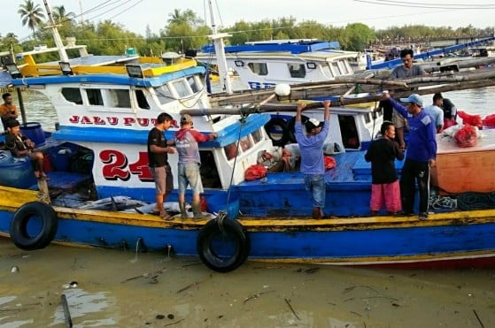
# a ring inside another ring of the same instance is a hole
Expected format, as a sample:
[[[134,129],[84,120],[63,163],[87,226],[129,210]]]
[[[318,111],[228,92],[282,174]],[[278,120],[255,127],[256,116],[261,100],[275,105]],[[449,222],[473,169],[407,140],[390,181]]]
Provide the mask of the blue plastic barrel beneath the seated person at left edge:
[[[0,150],[0,185],[28,188],[35,184],[35,172],[28,156],[14,158],[10,152]]]

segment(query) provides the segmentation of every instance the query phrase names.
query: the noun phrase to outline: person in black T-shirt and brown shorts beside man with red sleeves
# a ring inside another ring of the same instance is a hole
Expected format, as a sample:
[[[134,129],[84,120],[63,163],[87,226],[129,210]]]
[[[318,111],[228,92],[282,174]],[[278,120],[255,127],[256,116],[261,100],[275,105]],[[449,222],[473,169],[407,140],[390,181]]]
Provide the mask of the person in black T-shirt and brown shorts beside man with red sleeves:
[[[163,203],[166,197],[174,190],[174,177],[168,164],[168,154],[174,154],[175,149],[171,147],[173,141],[166,141],[164,131],[172,125],[173,118],[167,113],[160,113],[156,119],[155,126],[148,133],[148,166],[150,167],[151,176],[155,180],[156,202],[153,209],[159,212],[159,217],[165,220],[173,220],[166,213]]]

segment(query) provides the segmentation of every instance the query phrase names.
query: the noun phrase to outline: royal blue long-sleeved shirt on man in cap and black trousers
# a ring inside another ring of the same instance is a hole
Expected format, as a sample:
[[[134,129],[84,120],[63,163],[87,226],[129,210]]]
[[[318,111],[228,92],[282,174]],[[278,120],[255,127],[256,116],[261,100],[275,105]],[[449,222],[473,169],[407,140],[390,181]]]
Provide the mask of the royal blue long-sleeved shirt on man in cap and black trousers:
[[[389,98],[389,101],[394,110],[407,119],[409,125],[406,158],[420,162],[428,162],[430,159],[437,158],[437,128],[433,119],[423,110],[413,116],[401,103],[392,98]]]

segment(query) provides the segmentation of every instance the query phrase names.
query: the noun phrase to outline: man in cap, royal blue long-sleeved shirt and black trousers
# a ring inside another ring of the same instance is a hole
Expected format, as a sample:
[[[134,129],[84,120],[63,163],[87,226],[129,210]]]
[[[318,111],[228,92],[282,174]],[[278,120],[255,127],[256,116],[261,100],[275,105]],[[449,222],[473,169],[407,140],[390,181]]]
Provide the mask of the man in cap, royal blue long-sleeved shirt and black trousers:
[[[435,122],[422,110],[420,95],[400,98],[400,102],[406,103],[406,106],[391,98],[387,92],[383,93],[383,98],[391,102],[394,110],[405,117],[409,124],[409,147],[399,182],[403,213],[414,213],[414,189],[417,181],[420,194],[419,218],[424,220],[428,218],[429,168],[436,166],[437,158]]]

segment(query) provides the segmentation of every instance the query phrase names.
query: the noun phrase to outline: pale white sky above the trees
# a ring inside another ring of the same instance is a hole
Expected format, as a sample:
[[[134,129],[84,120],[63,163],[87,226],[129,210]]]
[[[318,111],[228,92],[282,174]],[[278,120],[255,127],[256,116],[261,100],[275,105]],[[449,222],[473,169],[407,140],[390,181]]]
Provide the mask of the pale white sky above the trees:
[[[43,8],[43,0],[32,0]],[[344,27],[350,23],[363,23],[382,29],[421,24],[429,27],[495,27],[493,0],[213,0],[217,27],[230,27],[236,21],[293,17],[297,22],[314,20],[318,23]],[[20,39],[30,30],[23,27],[18,14],[19,4],[25,0],[2,1],[0,35],[13,32]],[[78,19],[97,23],[104,19],[120,23],[129,31],[145,35],[146,27],[153,34],[166,26],[169,14],[175,9],[190,9],[211,25],[207,0],[48,0],[50,8],[64,5]],[[46,16],[46,15],[45,15]]]

